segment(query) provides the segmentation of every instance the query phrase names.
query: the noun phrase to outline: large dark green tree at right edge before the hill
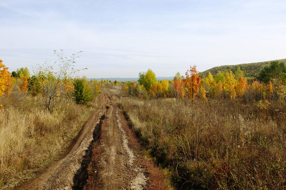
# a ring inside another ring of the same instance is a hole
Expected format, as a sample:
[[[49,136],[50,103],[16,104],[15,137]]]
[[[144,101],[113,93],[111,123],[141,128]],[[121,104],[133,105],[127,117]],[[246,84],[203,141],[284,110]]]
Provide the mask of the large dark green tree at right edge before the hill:
[[[270,64],[264,66],[258,73],[257,79],[268,83],[272,79],[285,79],[286,78],[286,66],[284,62],[279,63],[273,61]]]

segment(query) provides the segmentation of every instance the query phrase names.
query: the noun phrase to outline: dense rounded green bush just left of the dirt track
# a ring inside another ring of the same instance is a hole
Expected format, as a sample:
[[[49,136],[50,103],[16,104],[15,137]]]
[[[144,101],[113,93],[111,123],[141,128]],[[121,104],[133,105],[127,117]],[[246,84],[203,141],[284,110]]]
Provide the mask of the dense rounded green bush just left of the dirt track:
[[[93,99],[93,92],[86,78],[74,79],[74,100],[76,103],[86,104]]]

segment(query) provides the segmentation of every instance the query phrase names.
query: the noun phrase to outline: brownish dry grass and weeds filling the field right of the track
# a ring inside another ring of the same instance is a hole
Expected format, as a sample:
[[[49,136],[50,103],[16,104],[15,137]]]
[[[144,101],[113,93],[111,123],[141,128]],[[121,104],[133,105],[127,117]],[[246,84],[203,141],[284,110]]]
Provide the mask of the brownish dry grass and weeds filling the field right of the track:
[[[283,189],[286,109],[271,103],[116,97],[157,164],[183,189]]]

